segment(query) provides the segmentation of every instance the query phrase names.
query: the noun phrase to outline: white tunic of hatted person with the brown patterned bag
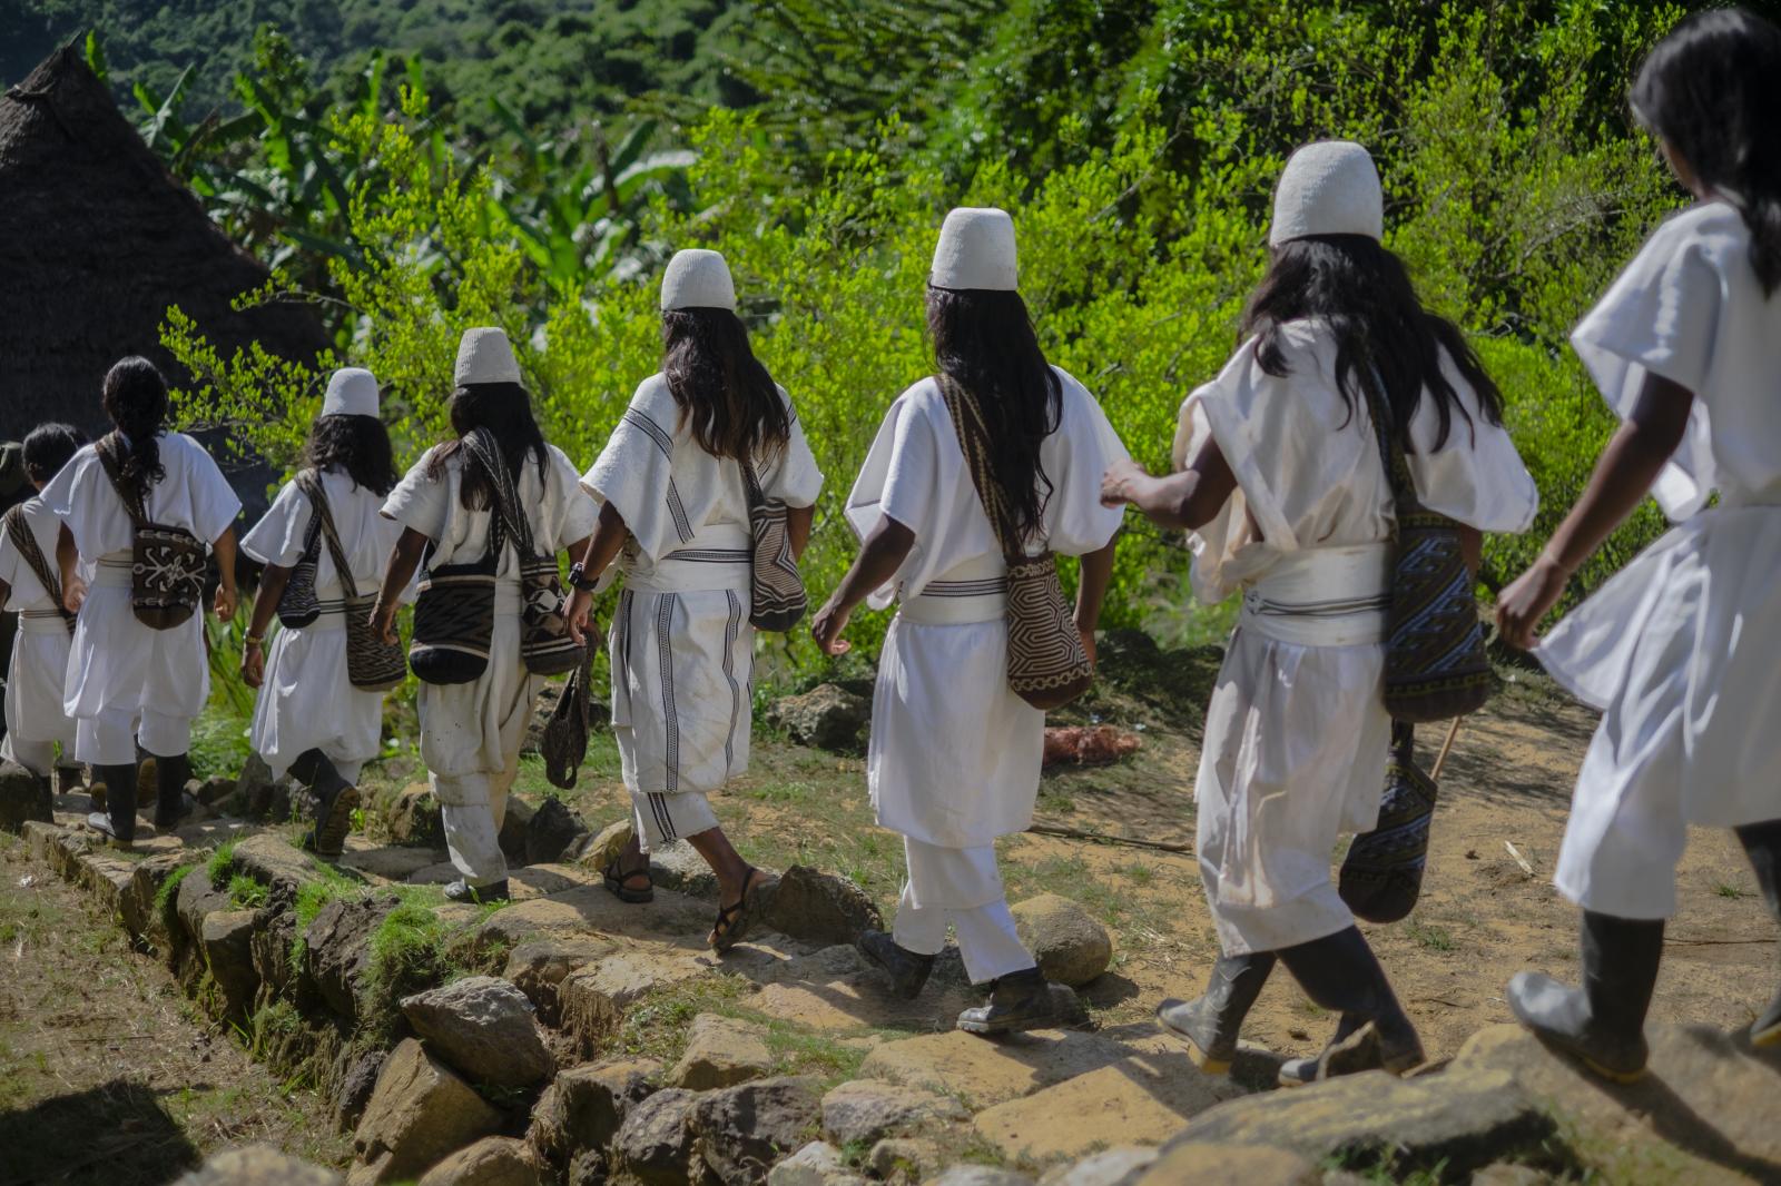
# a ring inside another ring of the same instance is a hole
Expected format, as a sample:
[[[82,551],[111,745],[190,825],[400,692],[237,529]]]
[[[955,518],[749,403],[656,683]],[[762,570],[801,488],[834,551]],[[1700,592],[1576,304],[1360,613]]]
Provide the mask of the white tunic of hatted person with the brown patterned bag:
[[[1044,547],[1083,556],[1118,531],[1122,513],[1101,506],[1101,475],[1127,452],[1095,397],[1054,370],[1063,417],[1040,447],[1054,486]],[[846,513],[862,538],[880,516],[915,534],[892,582],[871,597],[874,609],[901,602],[878,657],[866,755],[878,823],[939,848],[1024,832],[1045,714],[1008,689],[1006,566],[931,378],[890,404]]]

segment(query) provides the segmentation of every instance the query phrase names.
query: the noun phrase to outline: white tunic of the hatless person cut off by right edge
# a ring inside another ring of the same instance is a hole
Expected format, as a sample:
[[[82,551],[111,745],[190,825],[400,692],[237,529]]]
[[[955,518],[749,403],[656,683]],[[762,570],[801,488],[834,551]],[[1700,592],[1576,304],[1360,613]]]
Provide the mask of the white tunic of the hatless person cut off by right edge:
[[[1738,212],[1708,203],[1660,226],[1571,340],[1622,417],[1646,374],[1694,392],[1653,488],[1679,525],[1537,650],[1605,711],[1571,830],[1599,833],[1628,798],[1696,825],[1781,817],[1767,727],[1781,711],[1781,294],[1765,297]]]

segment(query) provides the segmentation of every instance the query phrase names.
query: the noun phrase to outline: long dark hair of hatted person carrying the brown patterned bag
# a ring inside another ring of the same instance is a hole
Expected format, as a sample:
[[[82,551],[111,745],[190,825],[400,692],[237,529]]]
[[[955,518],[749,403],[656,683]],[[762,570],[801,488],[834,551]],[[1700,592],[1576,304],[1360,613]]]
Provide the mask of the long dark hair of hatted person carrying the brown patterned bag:
[[[1038,531],[1051,479],[1038,449],[1063,422],[1063,383],[1045,363],[1019,292],[928,287],[940,374],[983,411],[988,461],[1021,540]]]

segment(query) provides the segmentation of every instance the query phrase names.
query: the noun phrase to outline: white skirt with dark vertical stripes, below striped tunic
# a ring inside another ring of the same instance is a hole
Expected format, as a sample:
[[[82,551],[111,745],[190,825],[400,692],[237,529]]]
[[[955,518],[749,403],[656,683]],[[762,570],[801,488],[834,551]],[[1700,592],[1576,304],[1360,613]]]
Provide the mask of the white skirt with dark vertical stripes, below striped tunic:
[[[748,593],[627,588],[609,645],[613,734],[632,794],[711,792],[748,769],[755,662]]]

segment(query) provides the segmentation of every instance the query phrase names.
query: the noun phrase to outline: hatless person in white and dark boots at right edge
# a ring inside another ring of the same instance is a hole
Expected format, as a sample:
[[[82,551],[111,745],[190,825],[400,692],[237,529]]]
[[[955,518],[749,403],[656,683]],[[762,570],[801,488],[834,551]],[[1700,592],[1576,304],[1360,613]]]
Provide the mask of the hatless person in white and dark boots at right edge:
[[[1736,830],[1781,921],[1781,28],[1738,11],[1690,18],[1631,100],[1699,205],[1651,235],[1573,333],[1624,424],[1498,604],[1503,638],[1528,646],[1647,491],[1678,524],[1535,650],[1603,712],[1555,876],[1583,910],[1583,983],[1523,972],[1509,1004],[1619,1081],[1644,1074],[1688,825]],[[1781,994],[1751,1042],[1781,1044]]]

